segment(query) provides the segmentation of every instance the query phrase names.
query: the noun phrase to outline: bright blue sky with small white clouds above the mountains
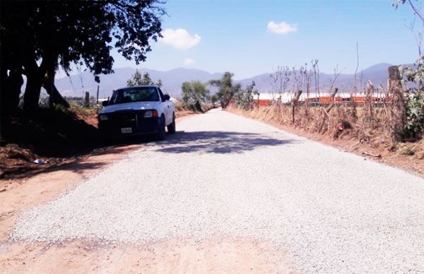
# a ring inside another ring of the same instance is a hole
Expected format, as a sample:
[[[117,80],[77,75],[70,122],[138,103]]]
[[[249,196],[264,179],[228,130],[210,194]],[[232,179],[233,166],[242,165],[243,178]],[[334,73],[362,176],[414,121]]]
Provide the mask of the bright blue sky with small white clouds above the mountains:
[[[406,28],[411,8],[395,10],[391,0],[169,0],[164,7],[165,37],[152,44],[147,61],[136,66],[114,53],[114,67],[231,71],[242,79],[312,59],[323,72],[338,65],[353,73],[356,42],[360,68],[412,63],[418,56]]]

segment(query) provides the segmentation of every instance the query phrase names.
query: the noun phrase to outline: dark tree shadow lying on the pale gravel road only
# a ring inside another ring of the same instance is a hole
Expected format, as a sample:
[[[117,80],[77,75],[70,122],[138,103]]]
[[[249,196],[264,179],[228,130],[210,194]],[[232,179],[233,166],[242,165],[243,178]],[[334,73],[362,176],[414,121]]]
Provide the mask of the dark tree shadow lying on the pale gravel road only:
[[[160,142],[161,153],[244,153],[266,146],[285,145],[297,141],[286,138],[272,138],[259,133],[232,131],[179,131],[168,135]]]

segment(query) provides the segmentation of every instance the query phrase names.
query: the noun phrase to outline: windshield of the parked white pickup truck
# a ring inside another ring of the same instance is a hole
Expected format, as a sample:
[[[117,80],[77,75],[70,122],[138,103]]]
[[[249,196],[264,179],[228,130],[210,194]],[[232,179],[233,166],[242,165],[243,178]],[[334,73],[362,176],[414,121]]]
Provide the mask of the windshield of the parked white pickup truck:
[[[155,87],[123,88],[122,90],[115,90],[110,98],[110,104],[154,101],[159,101],[158,90]]]

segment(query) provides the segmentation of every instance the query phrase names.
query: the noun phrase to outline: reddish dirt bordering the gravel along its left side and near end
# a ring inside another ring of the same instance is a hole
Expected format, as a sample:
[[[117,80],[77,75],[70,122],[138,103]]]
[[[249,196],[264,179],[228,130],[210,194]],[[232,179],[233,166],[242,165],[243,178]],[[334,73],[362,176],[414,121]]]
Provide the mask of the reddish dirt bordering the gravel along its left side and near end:
[[[177,121],[187,119],[179,118]],[[11,242],[22,210],[52,201],[141,145],[123,145],[88,155],[49,172],[0,180],[0,269],[2,273],[294,273],[285,251],[254,239],[167,241],[148,246],[103,246]]]

